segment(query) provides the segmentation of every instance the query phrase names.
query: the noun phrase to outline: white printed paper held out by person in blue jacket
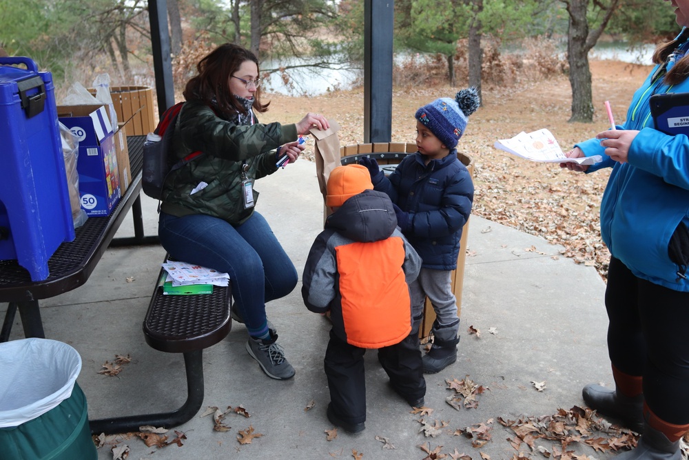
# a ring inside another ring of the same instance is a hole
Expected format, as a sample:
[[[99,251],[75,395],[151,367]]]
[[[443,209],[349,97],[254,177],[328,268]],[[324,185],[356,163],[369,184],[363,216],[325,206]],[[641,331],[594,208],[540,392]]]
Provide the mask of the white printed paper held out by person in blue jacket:
[[[534,132],[520,132],[512,139],[500,139],[495,142],[495,148],[504,150],[517,157],[531,161],[543,161],[546,163],[579,163],[580,165],[593,165],[603,158],[600,155],[582,158],[567,158],[555,136],[546,129]]]

